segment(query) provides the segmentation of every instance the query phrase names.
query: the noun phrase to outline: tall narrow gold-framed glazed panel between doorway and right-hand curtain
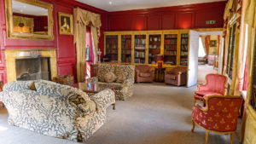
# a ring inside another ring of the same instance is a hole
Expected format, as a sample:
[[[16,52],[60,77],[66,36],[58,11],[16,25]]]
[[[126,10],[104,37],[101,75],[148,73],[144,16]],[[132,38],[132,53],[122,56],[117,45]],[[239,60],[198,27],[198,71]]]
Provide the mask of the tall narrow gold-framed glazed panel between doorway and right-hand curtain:
[[[236,47],[236,23],[233,26],[230,26],[227,69],[226,69],[226,74],[230,79],[232,79],[235,47]]]

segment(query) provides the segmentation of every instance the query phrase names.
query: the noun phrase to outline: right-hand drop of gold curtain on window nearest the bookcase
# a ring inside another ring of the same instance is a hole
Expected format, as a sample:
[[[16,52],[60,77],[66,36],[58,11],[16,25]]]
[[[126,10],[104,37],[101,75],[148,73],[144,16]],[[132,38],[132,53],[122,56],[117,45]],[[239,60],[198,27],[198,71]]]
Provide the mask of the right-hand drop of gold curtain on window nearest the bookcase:
[[[93,45],[93,55],[94,55],[94,63],[98,62],[97,59],[97,49],[98,49],[98,43],[99,43],[99,37],[97,35],[97,29],[94,26],[90,27],[91,37],[92,37],[92,45]]]

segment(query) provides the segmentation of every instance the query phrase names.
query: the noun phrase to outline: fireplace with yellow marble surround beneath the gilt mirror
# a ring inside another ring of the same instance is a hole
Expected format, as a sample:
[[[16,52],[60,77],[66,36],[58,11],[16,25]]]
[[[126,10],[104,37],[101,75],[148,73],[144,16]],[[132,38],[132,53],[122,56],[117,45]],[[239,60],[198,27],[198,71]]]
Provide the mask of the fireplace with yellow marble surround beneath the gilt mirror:
[[[55,49],[6,49],[5,61],[8,82],[57,76]]]

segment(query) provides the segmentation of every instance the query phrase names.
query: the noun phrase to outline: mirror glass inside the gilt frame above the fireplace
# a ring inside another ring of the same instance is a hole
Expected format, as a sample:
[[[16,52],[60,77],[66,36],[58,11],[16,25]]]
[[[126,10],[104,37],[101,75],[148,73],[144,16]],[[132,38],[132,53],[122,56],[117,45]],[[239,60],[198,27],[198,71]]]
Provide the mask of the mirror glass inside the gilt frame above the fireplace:
[[[14,32],[48,34],[48,9],[12,0]]]

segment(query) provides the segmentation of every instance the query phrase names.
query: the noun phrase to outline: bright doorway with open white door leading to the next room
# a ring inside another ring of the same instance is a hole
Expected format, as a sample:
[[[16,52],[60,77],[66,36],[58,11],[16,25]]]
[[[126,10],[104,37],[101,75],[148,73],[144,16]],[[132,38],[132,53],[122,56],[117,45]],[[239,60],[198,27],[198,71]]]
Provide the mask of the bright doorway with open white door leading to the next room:
[[[207,38],[206,38],[207,37]],[[207,49],[204,47],[206,45]],[[189,64],[187,87],[204,84],[208,73],[221,72],[223,42],[222,32],[189,31]]]

